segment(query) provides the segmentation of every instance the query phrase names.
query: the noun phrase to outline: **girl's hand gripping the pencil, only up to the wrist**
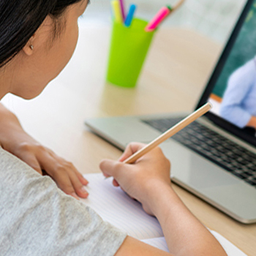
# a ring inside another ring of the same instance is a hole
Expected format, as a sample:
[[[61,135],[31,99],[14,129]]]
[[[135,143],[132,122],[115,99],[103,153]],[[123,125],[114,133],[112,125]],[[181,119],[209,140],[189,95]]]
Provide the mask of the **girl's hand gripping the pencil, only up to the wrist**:
[[[144,210],[154,215],[150,206],[151,197],[157,193],[157,188],[170,186],[170,162],[160,148],[154,148],[135,164],[122,163],[136,151],[143,148],[142,143],[131,143],[127,146],[119,162],[103,160],[100,169],[106,177],[113,176],[113,185],[124,189],[130,197],[143,204]]]

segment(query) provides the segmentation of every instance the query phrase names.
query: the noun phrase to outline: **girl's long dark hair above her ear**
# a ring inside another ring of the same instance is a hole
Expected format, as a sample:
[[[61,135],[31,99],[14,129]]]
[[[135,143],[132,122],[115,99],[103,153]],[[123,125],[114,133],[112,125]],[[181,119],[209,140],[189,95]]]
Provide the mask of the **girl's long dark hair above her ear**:
[[[29,42],[48,15],[58,19],[71,4],[81,0],[1,0],[0,67]]]

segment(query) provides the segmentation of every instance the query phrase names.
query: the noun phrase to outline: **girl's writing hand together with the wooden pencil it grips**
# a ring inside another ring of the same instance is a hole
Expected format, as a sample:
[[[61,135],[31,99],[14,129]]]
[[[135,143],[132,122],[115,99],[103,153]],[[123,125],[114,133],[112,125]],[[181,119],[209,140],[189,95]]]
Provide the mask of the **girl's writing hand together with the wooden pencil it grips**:
[[[120,186],[130,197],[140,201],[148,214],[154,215],[145,204],[145,195],[154,193],[152,185],[156,187],[167,185],[169,187],[171,182],[170,162],[156,146],[176,134],[179,130],[187,127],[192,121],[203,116],[210,109],[210,103],[203,105],[202,108],[199,108],[187,118],[184,118],[184,120],[180,121],[147,146],[143,146],[141,143],[129,144],[123,156],[119,159],[119,162],[109,159],[102,160],[100,163],[102,173],[107,178],[110,176],[113,177],[113,185],[115,187]],[[135,154],[133,154],[134,152]],[[144,156],[142,161],[138,161],[135,165],[125,164],[133,163],[142,156]]]

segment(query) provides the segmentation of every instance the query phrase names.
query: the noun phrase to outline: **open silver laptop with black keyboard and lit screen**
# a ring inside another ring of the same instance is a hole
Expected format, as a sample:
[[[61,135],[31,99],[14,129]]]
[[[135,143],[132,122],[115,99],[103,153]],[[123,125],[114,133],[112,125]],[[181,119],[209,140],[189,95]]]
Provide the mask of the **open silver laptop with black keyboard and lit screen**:
[[[162,143],[172,181],[238,222],[256,222],[256,0],[241,12],[197,104],[214,108]],[[94,118],[86,125],[118,148],[149,143],[182,113]]]

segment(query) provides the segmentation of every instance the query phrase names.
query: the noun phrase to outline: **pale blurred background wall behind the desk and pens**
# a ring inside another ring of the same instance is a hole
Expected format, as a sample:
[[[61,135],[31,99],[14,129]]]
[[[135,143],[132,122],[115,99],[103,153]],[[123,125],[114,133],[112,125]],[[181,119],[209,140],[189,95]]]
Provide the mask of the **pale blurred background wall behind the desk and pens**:
[[[214,41],[225,43],[236,23],[246,0],[187,0],[184,6],[163,26],[179,26],[194,29]],[[138,4],[136,15],[150,20],[166,4],[176,0],[126,0],[129,4]],[[80,22],[110,23],[110,0],[91,0],[91,4]]]

